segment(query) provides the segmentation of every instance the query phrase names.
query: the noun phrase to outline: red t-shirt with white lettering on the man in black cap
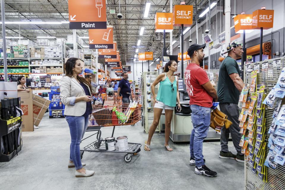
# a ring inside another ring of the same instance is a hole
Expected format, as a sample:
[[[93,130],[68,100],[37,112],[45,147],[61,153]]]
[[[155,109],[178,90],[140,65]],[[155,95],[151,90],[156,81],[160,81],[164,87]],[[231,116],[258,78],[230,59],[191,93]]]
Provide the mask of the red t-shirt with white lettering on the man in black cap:
[[[213,97],[208,94],[203,84],[209,81],[208,75],[204,69],[195,63],[190,63],[184,74],[186,90],[190,98],[190,105],[199,105],[202,107],[212,107]]]

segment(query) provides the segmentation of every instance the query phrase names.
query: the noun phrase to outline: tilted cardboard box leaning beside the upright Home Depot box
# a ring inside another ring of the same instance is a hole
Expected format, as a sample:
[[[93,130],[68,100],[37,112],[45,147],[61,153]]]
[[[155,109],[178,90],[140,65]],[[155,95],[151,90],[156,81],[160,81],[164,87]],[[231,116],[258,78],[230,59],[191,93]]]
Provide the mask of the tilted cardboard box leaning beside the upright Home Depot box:
[[[42,98],[36,94],[33,94],[33,112],[34,112],[34,125],[39,126],[48,106],[50,105],[50,100]]]

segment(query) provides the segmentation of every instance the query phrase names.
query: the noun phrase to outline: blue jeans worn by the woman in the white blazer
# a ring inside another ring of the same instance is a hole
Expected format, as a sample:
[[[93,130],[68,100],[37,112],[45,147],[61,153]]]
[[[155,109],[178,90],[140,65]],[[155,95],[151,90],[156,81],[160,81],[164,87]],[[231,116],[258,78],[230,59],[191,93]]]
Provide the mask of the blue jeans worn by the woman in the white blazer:
[[[74,163],[76,170],[80,170],[82,168],[80,159],[80,142],[88,127],[89,116],[78,117],[66,115],[65,119],[69,125],[69,131],[71,136],[69,160]]]

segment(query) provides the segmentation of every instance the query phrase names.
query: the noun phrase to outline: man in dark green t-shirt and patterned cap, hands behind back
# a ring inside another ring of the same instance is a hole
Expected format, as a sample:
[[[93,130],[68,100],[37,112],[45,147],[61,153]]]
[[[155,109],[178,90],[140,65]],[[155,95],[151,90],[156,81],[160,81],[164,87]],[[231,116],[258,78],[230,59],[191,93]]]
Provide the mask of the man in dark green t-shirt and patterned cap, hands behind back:
[[[244,84],[240,78],[240,69],[236,61],[242,56],[242,44],[239,42],[230,42],[227,46],[227,52],[228,56],[223,60],[219,71],[218,102],[220,102],[219,106],[221,111],[228,116],[232,125],[229,129],[225,127],[221,129],[221,151],[219,157],[244,162],[244,154],[241,153],[241,147],[239,146],[242,134],[240,134],[238,121],[238,99]],[[229,151],[229,134],[232,136],[232,142],[237,151],[237,155]]]

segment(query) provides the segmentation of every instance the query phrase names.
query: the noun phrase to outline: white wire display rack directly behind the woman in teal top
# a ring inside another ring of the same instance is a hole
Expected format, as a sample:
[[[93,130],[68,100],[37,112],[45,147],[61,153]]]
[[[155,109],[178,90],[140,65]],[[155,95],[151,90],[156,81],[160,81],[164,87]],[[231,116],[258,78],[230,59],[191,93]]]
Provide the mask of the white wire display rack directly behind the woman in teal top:
[[[153,122],[153,94],[148,94],[148,90],[151,91],[151,84],[158,77],[158,72],[143,72],[141,81],[141,90],[143,95],[143,128],[146,134],[148,134],[149,128]],[[147,83],[150,83],[149,85]],[[158,93],[159,84],[155,87],[155,93]],[[150,96],[150,110],[148,110],[149,102],[147,101]],[[156,132],[160,132],[160,123],[158,124]]]

